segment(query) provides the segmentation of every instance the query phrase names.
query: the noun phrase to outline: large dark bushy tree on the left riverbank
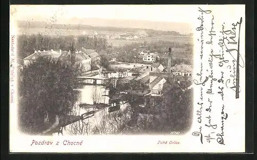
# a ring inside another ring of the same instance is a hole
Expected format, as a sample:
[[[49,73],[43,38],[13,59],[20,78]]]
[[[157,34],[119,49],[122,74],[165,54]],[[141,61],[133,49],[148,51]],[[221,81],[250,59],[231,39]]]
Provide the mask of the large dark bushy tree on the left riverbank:
[[[74,91],[78,66],[40,57],[24,67],[19,85],[19,122],[22,132],[38,134],[45,122],[71,113],[77,99]]]

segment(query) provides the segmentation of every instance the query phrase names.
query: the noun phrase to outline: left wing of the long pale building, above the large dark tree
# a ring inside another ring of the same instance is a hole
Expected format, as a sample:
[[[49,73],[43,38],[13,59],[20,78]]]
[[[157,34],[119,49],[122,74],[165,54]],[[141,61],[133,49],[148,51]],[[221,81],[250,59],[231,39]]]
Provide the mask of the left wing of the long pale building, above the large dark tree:
[[[62,50],[38,50],[34,51],[33,54],[29,55],[28,57],[23,59],[23,64],[25,66],[29,65],[30,63],[35,62],[39,57],[51,57],[53,59],[58,59],[62,54]]]

